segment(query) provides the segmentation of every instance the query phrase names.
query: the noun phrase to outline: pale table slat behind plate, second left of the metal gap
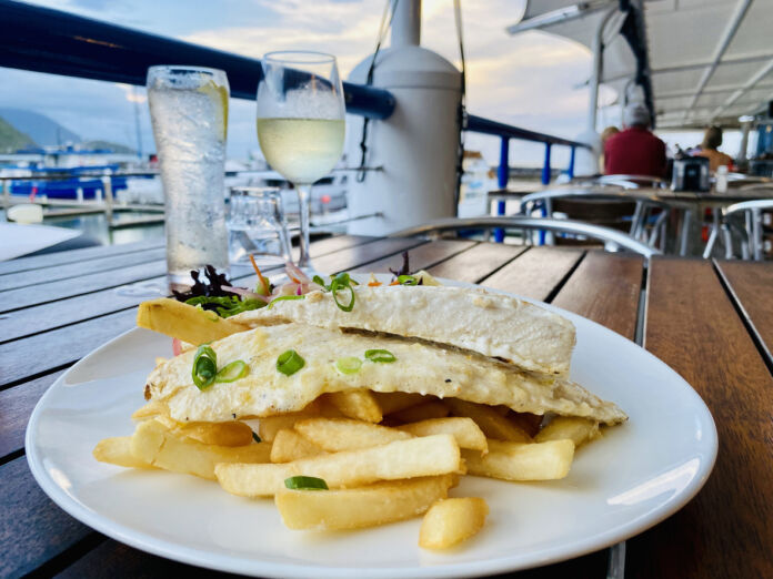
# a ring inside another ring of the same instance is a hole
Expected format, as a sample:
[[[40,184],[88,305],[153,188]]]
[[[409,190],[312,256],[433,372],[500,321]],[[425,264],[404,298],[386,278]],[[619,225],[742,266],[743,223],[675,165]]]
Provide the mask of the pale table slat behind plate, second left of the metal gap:
[[[481,283],[544,302],[583,254],[580,250],[532,247]]]

